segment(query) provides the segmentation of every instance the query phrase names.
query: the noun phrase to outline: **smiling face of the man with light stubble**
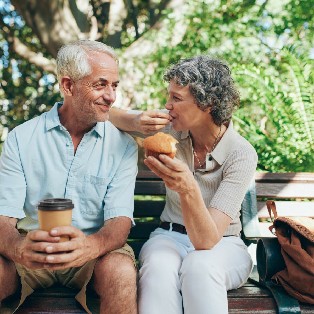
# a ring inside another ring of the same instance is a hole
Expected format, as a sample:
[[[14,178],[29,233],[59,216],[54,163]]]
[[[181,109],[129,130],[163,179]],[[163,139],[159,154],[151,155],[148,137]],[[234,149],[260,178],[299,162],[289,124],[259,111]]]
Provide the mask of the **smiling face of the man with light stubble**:
[[[116,100],[119,83],[118,66],[106,53],[89,54],[92,73],[75,83],[73,106],[87,123],[105,122]]]

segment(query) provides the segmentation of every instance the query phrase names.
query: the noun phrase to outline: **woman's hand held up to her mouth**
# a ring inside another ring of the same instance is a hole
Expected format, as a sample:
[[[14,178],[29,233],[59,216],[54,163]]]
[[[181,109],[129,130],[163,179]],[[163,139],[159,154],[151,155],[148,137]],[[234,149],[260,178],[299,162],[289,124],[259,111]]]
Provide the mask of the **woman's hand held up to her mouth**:
[[[143,111],[134,121],[135,129],[143,134],[156,132],[171,122],[172,116],[163,111]]]

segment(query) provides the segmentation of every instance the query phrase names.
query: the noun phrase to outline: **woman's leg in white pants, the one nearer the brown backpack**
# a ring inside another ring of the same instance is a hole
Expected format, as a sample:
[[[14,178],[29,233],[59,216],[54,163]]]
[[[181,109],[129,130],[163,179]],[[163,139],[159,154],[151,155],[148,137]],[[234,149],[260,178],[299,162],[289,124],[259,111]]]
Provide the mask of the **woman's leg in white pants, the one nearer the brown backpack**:
[[[228,314],[227,291],[243,285],[252,260],[239,237],[223,237],[211,250],[187,254],[180,269],[185,314]]]

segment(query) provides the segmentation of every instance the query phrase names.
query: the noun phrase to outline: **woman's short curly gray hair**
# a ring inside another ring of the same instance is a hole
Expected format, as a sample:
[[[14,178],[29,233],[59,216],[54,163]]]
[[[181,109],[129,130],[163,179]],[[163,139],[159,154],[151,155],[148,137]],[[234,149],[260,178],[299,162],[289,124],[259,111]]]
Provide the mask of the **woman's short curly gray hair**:
[[[165,71],[164,80],[188,85],[197,106],[203,111],[210,107],[218,126],[229,122],[240,105],[229,64],[221,58],[196,55],[181,59]]]

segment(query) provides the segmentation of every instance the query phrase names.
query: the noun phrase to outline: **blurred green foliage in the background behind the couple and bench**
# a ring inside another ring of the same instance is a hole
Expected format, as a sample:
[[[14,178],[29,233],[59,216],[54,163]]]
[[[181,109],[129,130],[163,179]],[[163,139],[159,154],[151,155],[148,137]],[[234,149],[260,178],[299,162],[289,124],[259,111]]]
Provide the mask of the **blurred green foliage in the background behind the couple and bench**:
[[[8,0],[3,2],[1,14],[19,40],[51,58]],[[101,3],[91,2],[97,19],[106,21],[107,4]],[[187,0],[180,15],[162,11],[164,27],[159,31],[149,30],[149,2],[133,3],[144,39],[158,43],[154,53],[131,60],[142,77],[135,84],[140,96],[132,100],[134,107],[164,107],[167,84],[162,75],[169,64],[218,53],[230,63],[239,84],[242,106],[234,125],[257,150],[258,169],[314,171],[314,0]],[[127,19],[120,56],[136,40],[134,14]],[[56,79],[13,53],[3,30],[0,48],[1,138],[4,127],[10,130],[49,110],[61,97]]]

